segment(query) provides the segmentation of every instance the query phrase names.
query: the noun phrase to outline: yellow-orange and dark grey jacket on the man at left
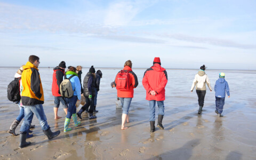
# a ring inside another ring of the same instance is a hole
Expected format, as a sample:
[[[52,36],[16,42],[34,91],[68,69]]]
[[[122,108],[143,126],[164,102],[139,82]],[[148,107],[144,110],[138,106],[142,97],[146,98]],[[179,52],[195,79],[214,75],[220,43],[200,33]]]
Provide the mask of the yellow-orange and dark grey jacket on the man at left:
[[[23,106],[34,106],[44,103],[44,91],[38,68],[31,62],[23,66],[21,81],[23,91],[21,101]]]

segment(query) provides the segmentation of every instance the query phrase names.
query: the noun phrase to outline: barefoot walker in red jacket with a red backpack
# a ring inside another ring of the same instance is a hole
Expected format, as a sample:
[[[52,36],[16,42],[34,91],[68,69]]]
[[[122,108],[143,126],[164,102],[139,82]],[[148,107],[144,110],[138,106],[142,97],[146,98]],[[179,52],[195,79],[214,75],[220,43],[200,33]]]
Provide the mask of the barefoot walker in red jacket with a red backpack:
[[[129,123],[128,113],[133,98],[133,89],[136,88],[138,84],[137,75],[132,71],[132,61],[127,60],[124,63],[124,68],[117,73],[114,81],[114,87],[117,89],[117,97],[119,97],[123,106],[121,130],[128,128],[125,127],[124,124],[125,121]]]

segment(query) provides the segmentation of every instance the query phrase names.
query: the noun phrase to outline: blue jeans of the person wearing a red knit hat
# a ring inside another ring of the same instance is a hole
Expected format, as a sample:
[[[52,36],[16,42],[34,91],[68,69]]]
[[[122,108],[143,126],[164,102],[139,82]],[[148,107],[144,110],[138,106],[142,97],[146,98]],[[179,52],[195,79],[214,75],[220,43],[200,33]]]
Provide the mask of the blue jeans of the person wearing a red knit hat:
[[[164,101],[149,101],[149,121],[155,121],[156,102],[158,106],[158,115],[164,115]]]

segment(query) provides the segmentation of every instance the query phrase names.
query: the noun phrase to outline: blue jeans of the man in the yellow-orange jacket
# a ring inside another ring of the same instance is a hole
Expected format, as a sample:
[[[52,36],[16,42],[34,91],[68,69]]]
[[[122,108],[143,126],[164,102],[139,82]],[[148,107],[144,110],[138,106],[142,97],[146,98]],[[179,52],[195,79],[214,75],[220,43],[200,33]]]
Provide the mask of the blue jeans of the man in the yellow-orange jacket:
[[[39,104],[39,105],[34,105],[34,106],[23,106],[24,107],[24,113],[25,113],[25,117],[24,117],[24,121],[20,127],[20,132],[27,132],[27,130],[30,127],[30,124],[32,122],[33,119],[33,115],[35,114],[41,127],[42,130],[46,131],[49,129],[49,125],[47,123],[47,118],[44,114],[44,109],[43,109],[43,105]]]

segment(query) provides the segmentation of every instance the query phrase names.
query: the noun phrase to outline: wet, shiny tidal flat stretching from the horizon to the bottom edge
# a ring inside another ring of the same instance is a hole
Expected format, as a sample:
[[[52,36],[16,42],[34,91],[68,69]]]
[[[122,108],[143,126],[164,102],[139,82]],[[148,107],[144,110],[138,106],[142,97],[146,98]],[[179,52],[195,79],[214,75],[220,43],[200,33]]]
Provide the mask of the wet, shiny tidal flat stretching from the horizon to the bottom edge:
[[[45,94],[44,110],[52,130],[61,130],[59,137],[48,141],[36,117],[33,124],[32,145],[18,149],[19,137],[6,131],[19,109],[7,100],[6,90],[18,68],[1,68],[0,124],[1,159],[255,159],[256,158],[256,71],[252,70],[206,70],[214,87],[220,72],[226,74],[230,98],[226,98],[224,117],[215,113],[214,91],[206,91],[203,114],[197,115],[197,95],[190,92],[197,70],[167,69],[164,130],[149,132],[148,101],[142,77],[146,69],[133,69],[139,85],[134,89],[130,108],[129,129],[121,131],[122,109],[116,109],[116,89],[110,83],[121,68],[100,69],[103,77],[98,94],[97,119],[83,114],[82,125],[68,133],[63,132],[64,118],[54,121],[51,93],[52,68],[39,68]],[[83,75],[89,68],[83,68]],[[7,74],[6,73],[11,73]],[[79,107],[80,108],[80,107]],[[78,108],[78,109],[79,109]],[[59,114],[65,117],[60,107]],[[19,133],[20,125],[16,132]],[[170,158],[172,157],[172,158]]]

